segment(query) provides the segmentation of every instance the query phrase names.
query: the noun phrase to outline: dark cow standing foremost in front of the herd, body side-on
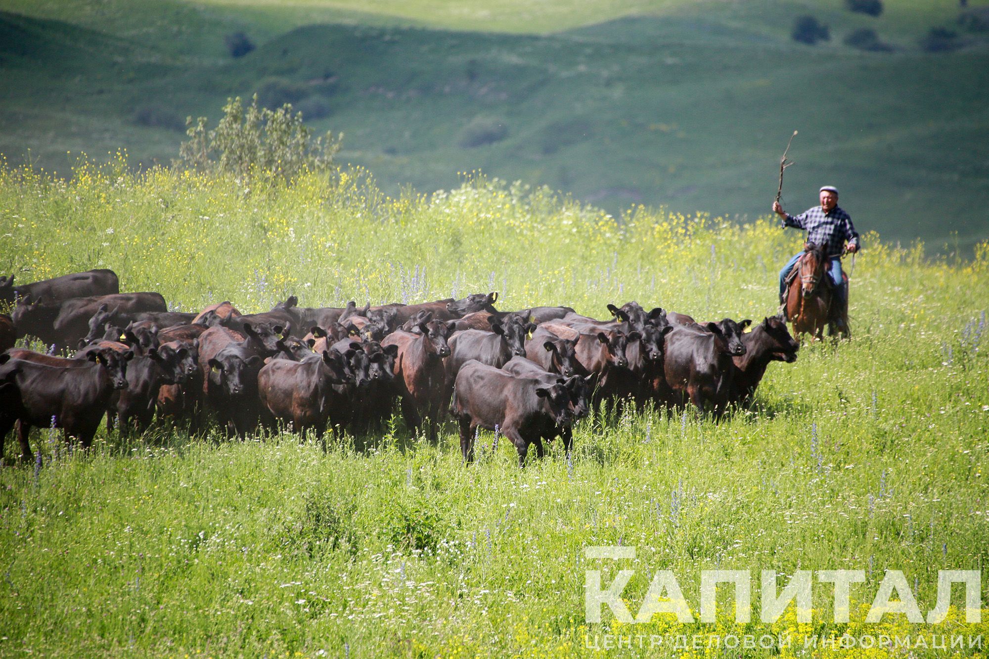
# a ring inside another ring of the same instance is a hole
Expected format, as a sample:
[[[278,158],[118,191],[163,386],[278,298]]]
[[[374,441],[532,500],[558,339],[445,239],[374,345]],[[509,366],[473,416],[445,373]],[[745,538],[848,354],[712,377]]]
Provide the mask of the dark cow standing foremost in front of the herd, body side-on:
[[[518,466],[525,465],[529,444],[543,457],[543,437],[573,424],[567,387],[544,386],[538,379],[519,378],[479,361],[469,361],[457,374],[450,414],[460,424],[460,450],[464,462],[474,460],[474,432],[495,426],[518,452]]]

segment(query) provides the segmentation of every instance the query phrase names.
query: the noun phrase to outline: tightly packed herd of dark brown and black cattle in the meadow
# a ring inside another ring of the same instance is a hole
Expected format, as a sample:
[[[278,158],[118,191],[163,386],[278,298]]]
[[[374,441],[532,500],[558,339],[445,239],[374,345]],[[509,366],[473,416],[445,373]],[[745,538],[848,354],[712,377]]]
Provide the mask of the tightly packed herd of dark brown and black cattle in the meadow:
[[[63,428],[89,446],[102,418],[143,428],[155,414],[215,419],[243,436],[259,424],[321,434],[326,425],[380,428],[401,402],[413,431],[435,436],[449,414],[470,461],[476,429],[499,431],[540,457],[542,439],[572,445],[572,426],[602,404],[621,410],[688,402],[720,417],[749,405],[770,361],[798,343],[766,318],[696,323],[629,302],[600,321],[569,307],[494,308],[496,293],[425,304],[303,308],[295,297],[261,314],[229,302],[169,312],[158,293],[120,292],[111,270],[15,286],[0,277],[0,456],[17,426],[34,460],[32,426]],[[13,347],[37,337],[46,353]],[[57,351],[74,350],[70,358]]]

